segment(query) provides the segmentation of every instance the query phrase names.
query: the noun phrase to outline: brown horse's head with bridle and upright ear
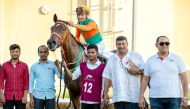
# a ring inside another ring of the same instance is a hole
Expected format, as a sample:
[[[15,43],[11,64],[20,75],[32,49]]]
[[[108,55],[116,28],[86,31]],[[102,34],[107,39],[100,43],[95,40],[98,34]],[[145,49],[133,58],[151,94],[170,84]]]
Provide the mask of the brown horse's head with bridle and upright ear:
[[[54,14],[53,21],[55,24],[51,27],[51,37],[47,41],[47,45],[51,51],[55,51],[65,41],[68,27],[64,21],[58,20]]]

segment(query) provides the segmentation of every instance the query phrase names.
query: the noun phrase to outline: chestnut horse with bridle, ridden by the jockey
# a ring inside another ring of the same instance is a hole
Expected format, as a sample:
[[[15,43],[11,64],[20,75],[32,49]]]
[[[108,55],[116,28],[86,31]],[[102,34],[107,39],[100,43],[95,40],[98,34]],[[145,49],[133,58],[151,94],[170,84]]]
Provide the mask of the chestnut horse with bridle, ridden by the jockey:
[[[61,47],[62,59],[66,61],[68,68],[73,72],[80,63],[84,47],[70,33],[66,23],[58,20],[56,14],[53,20],[55,24],[51,27],[51,37],[47,41],[47,45],[51,51],[55,51],[58,47]],[[74,108],[78,109],[80,107],[80,79],[70,81],[67,75],[65,75],[64,82],[69,90]]]

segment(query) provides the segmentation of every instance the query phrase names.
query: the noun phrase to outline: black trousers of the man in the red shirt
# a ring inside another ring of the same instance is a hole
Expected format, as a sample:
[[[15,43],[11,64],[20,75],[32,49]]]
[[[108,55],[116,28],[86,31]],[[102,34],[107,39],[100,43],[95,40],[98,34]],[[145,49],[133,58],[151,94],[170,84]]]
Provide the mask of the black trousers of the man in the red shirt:
[[[14,106],[16,109],[25,109],[26,104],[22,103],[22,101],[6,100],[3,109],[14,109]]]

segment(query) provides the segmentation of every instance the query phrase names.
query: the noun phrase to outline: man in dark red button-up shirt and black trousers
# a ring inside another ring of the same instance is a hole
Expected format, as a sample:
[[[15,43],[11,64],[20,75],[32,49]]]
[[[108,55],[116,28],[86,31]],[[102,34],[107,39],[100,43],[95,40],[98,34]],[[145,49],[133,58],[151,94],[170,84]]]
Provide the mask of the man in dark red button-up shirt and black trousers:
[[[26,63],[19,60],[20,46],[9,48],[11,59],[2,64],[0,72],[0,102],[3,109],[25,109],[29,84],[29,70]]]

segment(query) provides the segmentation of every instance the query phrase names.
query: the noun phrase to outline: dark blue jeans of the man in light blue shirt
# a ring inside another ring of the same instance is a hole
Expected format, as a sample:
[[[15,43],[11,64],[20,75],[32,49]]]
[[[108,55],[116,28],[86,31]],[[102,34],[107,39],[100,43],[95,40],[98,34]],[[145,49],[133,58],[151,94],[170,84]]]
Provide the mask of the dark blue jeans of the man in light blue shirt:
[[[53,99],[37,99],[34,98],[34,109],[55,109],[55,98]]]

